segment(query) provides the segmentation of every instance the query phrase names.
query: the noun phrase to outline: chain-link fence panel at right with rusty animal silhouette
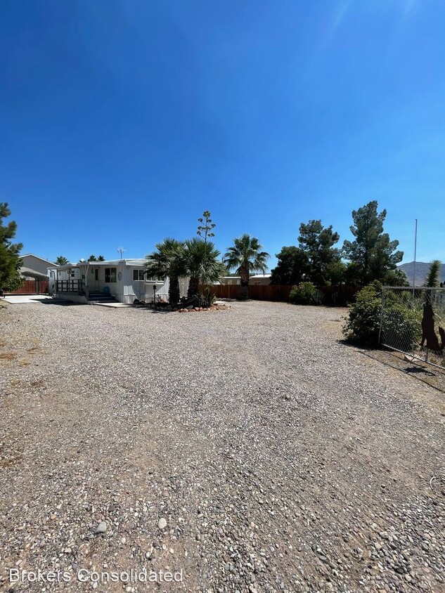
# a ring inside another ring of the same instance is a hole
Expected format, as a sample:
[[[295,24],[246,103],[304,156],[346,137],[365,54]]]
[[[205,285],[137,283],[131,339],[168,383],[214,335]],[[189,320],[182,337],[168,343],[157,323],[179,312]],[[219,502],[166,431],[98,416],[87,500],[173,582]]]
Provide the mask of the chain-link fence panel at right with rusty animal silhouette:
[[[383,287],[380,344],[445,368],[445,288]]]

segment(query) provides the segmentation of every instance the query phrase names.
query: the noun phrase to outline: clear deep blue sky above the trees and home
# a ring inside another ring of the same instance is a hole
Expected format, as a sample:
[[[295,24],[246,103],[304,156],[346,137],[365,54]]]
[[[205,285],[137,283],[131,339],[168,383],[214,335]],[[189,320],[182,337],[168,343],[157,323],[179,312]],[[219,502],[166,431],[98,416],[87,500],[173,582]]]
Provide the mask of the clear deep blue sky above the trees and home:
[[[404,261],[445,260],[445,3],[3,0],[0,201],[23,252],[145,256],[369,200]],[[271,265],[275,259],[271,259]]]

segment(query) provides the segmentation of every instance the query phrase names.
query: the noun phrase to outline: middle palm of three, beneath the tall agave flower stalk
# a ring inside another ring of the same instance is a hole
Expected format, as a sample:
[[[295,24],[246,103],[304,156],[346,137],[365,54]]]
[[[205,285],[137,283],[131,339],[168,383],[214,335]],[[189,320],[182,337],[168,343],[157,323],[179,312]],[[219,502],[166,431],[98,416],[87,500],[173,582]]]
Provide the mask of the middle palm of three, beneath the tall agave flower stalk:
[[[220,254],[211,241],[201,239],[186,240],[184,254],[190,275],[187,297],[193,299],[199,294],[200,282],[211,284],[221,278],[222,267],[218,260]]]

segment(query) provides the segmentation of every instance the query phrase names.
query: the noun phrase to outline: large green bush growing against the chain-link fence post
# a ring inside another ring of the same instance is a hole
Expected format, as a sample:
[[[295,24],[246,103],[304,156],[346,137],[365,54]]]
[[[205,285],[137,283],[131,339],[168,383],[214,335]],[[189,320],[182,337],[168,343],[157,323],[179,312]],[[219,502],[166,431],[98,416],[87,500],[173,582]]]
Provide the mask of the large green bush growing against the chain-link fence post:
[[[378,348],[382,314],[382,287],[379,282],[363,287],[349,309],[343,327],[347,341],[360,346]],[[392,332],[400,344],[411,346],[420,339],[422,310],[413,306],[411,294],[388,292],[385,297],[383,332]]]

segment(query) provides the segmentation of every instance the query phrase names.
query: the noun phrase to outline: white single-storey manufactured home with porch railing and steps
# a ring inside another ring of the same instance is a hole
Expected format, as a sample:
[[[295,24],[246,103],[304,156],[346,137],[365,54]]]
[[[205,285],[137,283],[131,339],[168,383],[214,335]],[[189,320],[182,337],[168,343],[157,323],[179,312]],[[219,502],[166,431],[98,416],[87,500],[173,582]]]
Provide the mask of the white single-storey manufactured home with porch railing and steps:
[[[147,278],[146,259],[79,261],[48,268],[49,293],[77,303],[115,300],[131,304],[168,299],[169,279]]]

